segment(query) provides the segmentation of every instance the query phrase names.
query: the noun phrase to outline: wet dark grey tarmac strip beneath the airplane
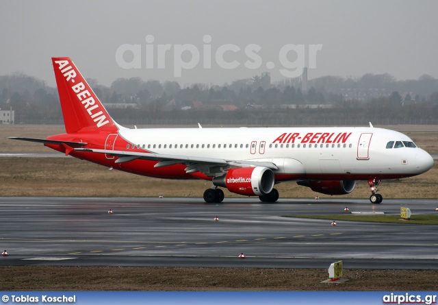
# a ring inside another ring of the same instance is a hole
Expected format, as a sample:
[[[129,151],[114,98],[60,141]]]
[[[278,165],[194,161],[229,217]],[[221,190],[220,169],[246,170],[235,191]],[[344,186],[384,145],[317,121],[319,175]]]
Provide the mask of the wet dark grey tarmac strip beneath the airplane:
[[[345,269],[438,269],[435,225],[282,217],[342,215],[346,206],[438,215],[436,199],[0,197],[0,250],[9,253],[0,265],[326,269],[343,260]]]

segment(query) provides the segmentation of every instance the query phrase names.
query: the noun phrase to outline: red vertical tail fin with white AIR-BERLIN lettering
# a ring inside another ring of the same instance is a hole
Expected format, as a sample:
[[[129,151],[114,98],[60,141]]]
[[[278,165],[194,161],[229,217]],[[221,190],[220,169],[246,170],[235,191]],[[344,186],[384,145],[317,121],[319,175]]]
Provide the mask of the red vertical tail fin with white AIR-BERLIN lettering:
[[[52,58],[68,134],[79,130],[116,132],[116,124],[70,58]]]

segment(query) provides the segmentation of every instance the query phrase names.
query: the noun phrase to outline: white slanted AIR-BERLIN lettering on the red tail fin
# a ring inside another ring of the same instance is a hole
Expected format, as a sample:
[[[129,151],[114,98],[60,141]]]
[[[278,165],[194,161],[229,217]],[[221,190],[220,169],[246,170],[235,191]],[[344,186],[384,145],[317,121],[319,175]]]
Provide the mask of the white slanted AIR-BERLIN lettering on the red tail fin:
[[[83,82],[75,84],[75,77],[77,76],[77,73],[75,69],[69,65],[70,62],[68,62],[68,60],[55,60],[55,63],[59,65],[59,69],[64,77],[66,77],[66,81],[70,81],[72,84],[74,84],[71,86],[73,92],[77,93],[77,98],[79,101],[81,101],[83,108],[87,110],[88,115],[90,115],[92,120],[96,122],[96,126],[102,127],[103,125],[110,123],[105,114],[103,114],[101,110],[99,111],[99,103],[96,103],[94,97],[92,97],[92,91],[88,90],[88,85],[83,84]]]

